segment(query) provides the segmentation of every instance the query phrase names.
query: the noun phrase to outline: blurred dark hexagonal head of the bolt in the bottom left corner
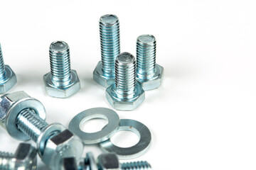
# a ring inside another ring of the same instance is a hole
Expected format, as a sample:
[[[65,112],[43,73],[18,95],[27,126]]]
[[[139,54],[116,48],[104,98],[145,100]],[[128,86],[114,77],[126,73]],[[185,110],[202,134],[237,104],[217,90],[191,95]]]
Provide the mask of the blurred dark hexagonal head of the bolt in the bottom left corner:
[[[14,169],[36,169],[36,148],[30,144],[21,143],[14,154]]]

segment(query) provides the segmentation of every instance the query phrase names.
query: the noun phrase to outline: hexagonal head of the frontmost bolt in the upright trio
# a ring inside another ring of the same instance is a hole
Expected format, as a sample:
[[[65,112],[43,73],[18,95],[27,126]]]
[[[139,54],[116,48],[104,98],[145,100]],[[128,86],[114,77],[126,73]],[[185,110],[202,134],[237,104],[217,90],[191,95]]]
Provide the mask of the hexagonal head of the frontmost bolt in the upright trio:
[[[115,84],[112,84],[106,90],[107,101],[110,105],[119,111],[133,111],[139,107],[145,100],[145,92],[142,86],[136,82],[134,95],[130,98],[119,98],[115,90]]]

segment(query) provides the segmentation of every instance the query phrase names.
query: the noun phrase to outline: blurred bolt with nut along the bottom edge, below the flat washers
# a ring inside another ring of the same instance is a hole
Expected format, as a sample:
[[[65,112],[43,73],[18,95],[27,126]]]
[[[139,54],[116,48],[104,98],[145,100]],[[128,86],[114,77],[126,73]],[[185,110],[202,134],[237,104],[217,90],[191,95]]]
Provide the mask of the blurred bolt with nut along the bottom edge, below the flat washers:
[[[85,159],[79,162],[78,166],[74,157],[64,158],[62,161],[62,170],[150,170],[151,165],[148,162],[127,162],[119,163],[116,154],[100,154],[97,162],[92,152],[86,154]]]

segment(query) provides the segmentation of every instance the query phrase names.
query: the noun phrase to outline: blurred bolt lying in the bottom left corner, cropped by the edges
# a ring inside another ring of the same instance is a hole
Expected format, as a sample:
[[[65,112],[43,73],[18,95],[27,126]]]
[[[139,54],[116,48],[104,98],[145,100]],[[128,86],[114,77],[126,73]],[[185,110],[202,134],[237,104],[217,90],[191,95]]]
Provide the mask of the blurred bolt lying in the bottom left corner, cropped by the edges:
[[[15,154],[0,152],[0,169],[36,169],[36,148],[30,144],[18,145]]]

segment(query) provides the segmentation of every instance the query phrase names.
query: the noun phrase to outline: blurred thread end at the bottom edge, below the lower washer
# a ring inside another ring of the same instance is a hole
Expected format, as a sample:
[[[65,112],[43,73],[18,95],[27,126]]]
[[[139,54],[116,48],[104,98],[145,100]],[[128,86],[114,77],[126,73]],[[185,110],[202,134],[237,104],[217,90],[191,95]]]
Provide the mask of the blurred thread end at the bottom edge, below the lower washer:
[[[149,170],[151,165],[148,162],[127,162],[121,164],[122,170]]]

